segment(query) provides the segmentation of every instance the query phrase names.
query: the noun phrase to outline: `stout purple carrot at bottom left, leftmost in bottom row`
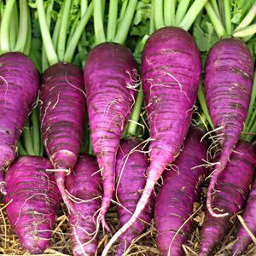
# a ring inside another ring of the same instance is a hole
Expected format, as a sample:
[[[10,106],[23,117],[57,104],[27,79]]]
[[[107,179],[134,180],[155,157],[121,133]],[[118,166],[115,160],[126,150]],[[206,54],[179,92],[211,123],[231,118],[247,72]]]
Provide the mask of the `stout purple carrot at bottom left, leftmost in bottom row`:
[[[31,254],[41,254],[49,246],[61,194],[55,176],[46,169],[49,160],[21,156],[9,167],[5,181],[7,216],[22,247]]]

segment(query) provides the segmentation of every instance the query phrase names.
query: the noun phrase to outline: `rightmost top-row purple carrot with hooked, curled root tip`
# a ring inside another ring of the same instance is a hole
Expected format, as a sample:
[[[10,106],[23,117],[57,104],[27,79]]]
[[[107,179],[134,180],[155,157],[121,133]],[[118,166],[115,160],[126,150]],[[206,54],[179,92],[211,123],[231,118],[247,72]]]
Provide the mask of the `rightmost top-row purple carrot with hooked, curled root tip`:
[[[222,148],[207,190],[207,209],[215,217],[224,216],[225,212],[212,211],[212,189],[241,136],[252,85],[253,56],[247,45],[235,38],[226,38],[214,44],[206,61],[205,92],[212,124]]]

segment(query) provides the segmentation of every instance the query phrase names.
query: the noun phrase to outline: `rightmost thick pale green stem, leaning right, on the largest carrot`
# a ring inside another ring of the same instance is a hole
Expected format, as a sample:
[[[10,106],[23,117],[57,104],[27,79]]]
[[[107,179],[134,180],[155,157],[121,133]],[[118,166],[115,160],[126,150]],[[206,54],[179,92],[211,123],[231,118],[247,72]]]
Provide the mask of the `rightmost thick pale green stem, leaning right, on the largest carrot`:
[[[201,9],[204,8],[206,3],[207,0],[195,0],[178,26],[182,27],[185,31],[188,31],[194,23],[196,16],[201,12]]]

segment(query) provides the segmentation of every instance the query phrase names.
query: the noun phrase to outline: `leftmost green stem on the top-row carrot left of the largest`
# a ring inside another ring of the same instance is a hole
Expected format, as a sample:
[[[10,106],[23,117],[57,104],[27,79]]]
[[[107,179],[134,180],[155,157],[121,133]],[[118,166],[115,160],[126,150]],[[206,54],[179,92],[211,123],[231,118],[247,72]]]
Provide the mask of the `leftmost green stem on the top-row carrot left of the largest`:
[[[95,40],[96,44],[101,44],[106,42],[103,20],[102,20],[102,0],[93,0],[94,12],[93,12],[93,21],[94,21],[94,30],[95,30]]]

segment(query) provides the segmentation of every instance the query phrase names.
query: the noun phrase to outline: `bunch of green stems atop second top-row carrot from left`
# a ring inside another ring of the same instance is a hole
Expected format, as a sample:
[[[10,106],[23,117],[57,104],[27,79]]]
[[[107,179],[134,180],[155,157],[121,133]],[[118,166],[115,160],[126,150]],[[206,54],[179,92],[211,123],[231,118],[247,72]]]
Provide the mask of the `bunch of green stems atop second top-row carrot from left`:
[[[93,1],[37,0],[33,4],[38,9],[44,42],[43,71],[58,61],[72,61],[84,27],[92,15]]]

